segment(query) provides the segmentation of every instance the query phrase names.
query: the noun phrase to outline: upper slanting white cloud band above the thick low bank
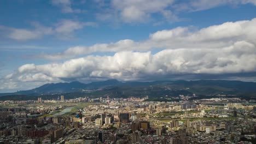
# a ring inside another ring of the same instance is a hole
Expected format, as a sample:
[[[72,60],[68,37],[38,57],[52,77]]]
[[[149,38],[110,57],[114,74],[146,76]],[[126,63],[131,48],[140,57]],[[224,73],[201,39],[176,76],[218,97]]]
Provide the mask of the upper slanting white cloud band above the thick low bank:
[[[45,59],[74,58],[94,52],[138,51],[152,49],[223,49],[237,43],[247,41],[255,45],[256,19],[249,21],[226,22],[222,25],[202,29],[194,27],[177,27],[165,29],[149,35],[144,41],[130,39],[119,40],[110,44],[95,44],[92,46],[74,46],[66,51],[55,54],[42,54]]]

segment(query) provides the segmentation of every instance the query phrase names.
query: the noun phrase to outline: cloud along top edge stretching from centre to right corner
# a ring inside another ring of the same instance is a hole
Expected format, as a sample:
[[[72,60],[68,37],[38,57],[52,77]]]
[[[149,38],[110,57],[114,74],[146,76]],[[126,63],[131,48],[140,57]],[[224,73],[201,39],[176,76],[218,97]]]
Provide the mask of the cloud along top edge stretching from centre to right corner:
[[[102,5],[102,1],[95,1]],[[107,3],[107,4],[106,4]],[[182,12],[201,11],[230,5],[237,7],[244,4],[256,5],[255,0],[189,0],[189,1],[174,1],[174,0],[110,0],[104,2],[104,7],[101,7],[102,13],[96,14],[97,19],[103,21],[138,23],[138,22],[153,22],[158,25],[164,22],[182,21],[179,14]],[[107,7],[106,7],[107,5]],[[156,15],[162,15],[155,17]],[[162,20],[164,18],[164,20]]]

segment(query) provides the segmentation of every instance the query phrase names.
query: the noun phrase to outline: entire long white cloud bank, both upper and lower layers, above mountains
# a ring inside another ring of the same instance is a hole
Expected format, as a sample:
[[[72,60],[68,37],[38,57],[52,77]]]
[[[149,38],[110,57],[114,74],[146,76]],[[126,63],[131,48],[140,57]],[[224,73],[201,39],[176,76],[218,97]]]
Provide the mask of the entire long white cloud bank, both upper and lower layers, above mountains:
[[[19,82],[48,83],[66,80],[152,80],[172,75],[221,75],[256,72],[256,19],[226,22],[195,29],[177,27],[150,34],[144,41],[71,47],[43,55],[48,59],[74,58],[43,65],[25,64],[0,79],[0,89],[20,88]],[[159,52],[152,53],[152,49]],[[161,50],[161,51],[160,51]],[[92,52],[115,52],[95,56]],[[31,84],[32,85],[32,84]]]

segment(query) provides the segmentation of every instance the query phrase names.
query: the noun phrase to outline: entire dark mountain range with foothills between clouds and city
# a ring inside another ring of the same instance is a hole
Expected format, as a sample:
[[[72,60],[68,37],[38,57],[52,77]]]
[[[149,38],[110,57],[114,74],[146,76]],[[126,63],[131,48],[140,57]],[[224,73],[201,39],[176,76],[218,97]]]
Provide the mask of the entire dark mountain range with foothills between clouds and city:
[[[0,100],[3,97],[11,98],[10,95],[25,95],[30,98],[38,95],[60,94],[69,95],[71,98],[74,97],[73,95],[79,95],[79,97],[81,95],[90,95],[91,97],[102,97],[106,95],[112,97],[143,97],[148,95],[149,97],[155,98],[166,95],[178,97],[179,94],[191,95],[193,93],[199,95],[254,95],[256,94],[256,83],[228,80],[121,82],[111,79],[85,84],[74,81],[48,83],[31,90],[15,93],[0,93]]]

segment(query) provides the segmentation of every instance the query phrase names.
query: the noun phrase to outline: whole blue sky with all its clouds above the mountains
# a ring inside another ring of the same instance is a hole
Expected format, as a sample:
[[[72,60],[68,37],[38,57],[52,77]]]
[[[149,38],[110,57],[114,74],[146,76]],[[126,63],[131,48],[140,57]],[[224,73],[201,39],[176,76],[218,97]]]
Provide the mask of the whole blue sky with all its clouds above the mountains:
[[[0,1],[0,13],[0,92],[200,74],[255,81],[255,0],[16,0]]]

